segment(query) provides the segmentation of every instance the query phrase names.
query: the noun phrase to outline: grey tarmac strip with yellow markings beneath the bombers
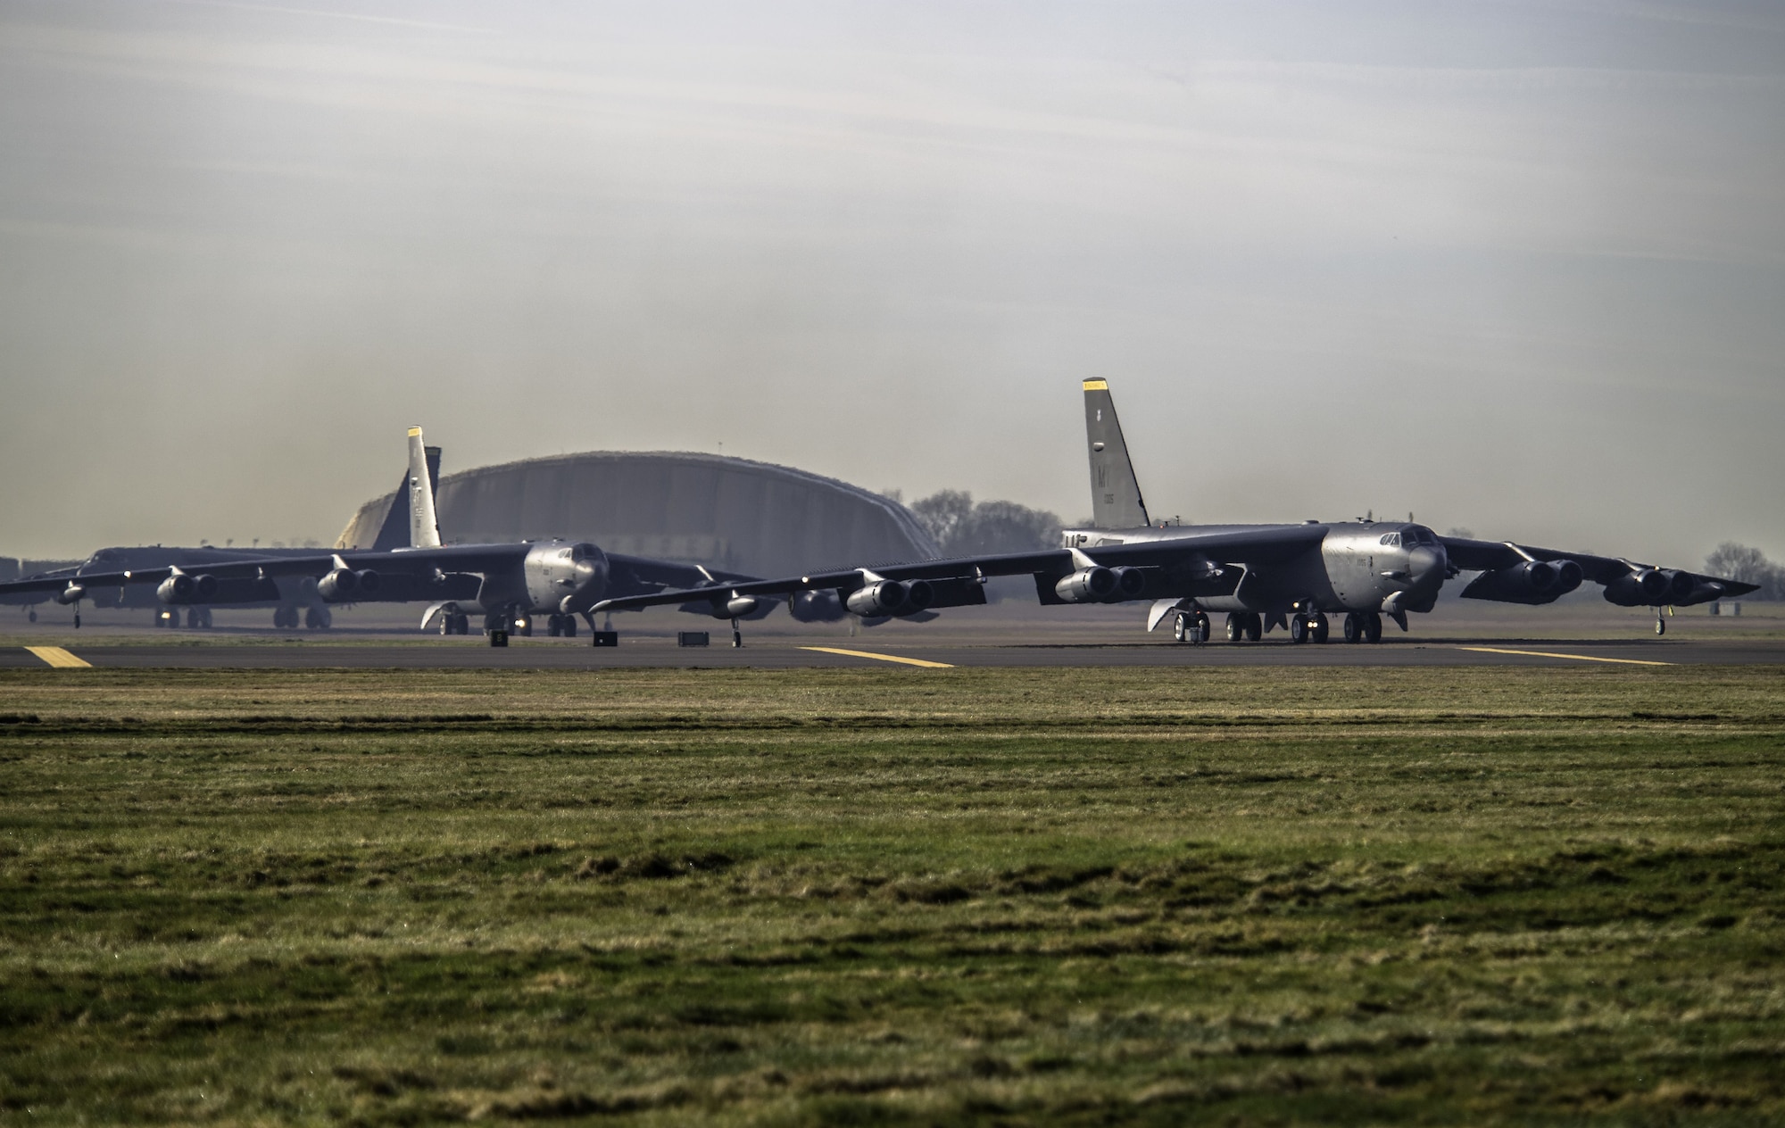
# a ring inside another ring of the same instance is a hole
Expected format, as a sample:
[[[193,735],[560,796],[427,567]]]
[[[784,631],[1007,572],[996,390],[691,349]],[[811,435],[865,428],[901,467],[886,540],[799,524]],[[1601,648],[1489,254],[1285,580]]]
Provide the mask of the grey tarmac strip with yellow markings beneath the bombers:
[[[719,643],[719,637],[714,639]],[[623,639],[594,648],[564,639],[514,639],[493,648],[478,637],[414,643],[187,643],[0,648],[0,668],[136,669],[609,669],[680,668],[901,668],[971,666],[1764,666],[1785,664],[1785,639],[1394,639],[1367,644],[1207,643],[871,643],[859,639],[762,639],[678,648],[668,639]]]

